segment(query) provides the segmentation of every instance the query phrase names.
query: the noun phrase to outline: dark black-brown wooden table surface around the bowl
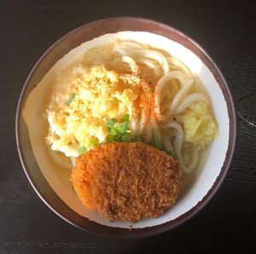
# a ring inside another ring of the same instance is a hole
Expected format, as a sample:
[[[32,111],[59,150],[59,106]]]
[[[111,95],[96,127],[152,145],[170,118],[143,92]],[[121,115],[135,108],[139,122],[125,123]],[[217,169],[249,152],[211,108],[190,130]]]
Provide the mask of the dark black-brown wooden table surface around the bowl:
[[[256,3],[235,2],[0,1],[0,253],[253,252]],[[78,26],[121,15],[160,20],[200,43],[224,73],[238,122],[233,163],[211,202],[182,226],[141,240],[98,237],[56,216],[27,181],[15,145],[20,90],[40,55]]]

